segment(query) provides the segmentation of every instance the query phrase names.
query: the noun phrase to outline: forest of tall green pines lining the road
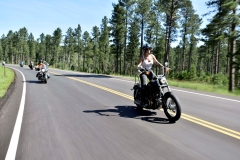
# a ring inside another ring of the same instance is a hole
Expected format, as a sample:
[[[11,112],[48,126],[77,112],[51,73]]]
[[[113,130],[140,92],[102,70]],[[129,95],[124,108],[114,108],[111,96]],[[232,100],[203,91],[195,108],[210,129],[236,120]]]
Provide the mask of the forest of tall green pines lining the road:
[[[81,24],[39,37],[25,27],[9,30],[0,38],[0,60],[36,65],[42,59],[53,68],[132,76],[141,46],[149,43],[158,61],[169,63],[169,78],[228,86],[234,92],[240,88],[239,1],[209,0],[206,5],[206,16],[213,16],[200,29],[202,18],[191,0],[119,0],[112,4],[111,17],[104,16],[91,33]]]

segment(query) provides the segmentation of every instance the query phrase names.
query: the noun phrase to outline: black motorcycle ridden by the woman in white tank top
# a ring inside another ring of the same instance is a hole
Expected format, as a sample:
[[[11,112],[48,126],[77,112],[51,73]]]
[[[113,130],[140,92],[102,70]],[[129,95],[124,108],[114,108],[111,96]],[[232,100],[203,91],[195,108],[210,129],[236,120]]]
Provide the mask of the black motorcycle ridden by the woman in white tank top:
[[[171,92],[166,79],[166,72],[170,68],[167,67],[167,63],[162,67],[162,74],[154,75],[154,78],[150,80],[145,89],[145,106],[141,106],[141,82],[136,83],[133,86],[134,104],[137,105],[137,109],[162,109],[170,122],[175,122],[181,117],[181,105],[178,98]],[[141,69],[141,74],[150,74],[152,70]],[[152,72],[153,73],[153,72]],[[167,88],[167,91],[164,90]]]

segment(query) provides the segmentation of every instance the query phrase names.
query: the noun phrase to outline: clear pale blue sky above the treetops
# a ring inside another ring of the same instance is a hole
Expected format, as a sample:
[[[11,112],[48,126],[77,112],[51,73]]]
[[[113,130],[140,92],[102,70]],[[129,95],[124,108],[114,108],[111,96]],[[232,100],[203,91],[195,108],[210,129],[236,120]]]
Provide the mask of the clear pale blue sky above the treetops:
[[[78,24],[82,32],[100,27],[104,16],[111,17],[112,3],[118,0],[0,0],[0,36],[9,30],[26,27],[28,33],[39,38],[41,33],[52,35],[58,27],[65,34],[69,27]],[[207,13],[207,0],[193,0],[194,9],[200,16]],[[205,18],[206,19],[206,18]],[[205,23],[202,25],[204,27]]]

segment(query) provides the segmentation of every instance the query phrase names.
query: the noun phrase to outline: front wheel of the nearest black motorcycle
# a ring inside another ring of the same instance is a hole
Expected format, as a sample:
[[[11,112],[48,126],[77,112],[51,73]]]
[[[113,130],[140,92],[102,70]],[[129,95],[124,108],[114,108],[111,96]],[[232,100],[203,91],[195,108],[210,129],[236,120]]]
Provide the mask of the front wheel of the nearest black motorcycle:
[[[164,94],[163,110],[170,122],[175,122],[181,117],[181,106],[178,98],[171,92]]]

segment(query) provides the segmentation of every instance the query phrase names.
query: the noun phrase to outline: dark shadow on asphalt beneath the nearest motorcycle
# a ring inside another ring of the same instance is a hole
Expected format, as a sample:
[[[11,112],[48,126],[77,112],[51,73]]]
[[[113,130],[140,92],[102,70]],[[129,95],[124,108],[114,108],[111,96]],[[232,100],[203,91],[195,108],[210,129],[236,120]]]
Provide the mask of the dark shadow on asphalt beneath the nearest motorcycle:
[[[166,118],[154,117],[157,112],[150,110],[137,110],[135,106],[115,106],[115,109],[86,110],[85,113],[97,113],[100,116],[119,116],[124,118],[141,119],[143,121],[159,124],[171,124]],[[114,115],[117,113],[118,115]],[[150,116],[150,117],[149,117]]]

